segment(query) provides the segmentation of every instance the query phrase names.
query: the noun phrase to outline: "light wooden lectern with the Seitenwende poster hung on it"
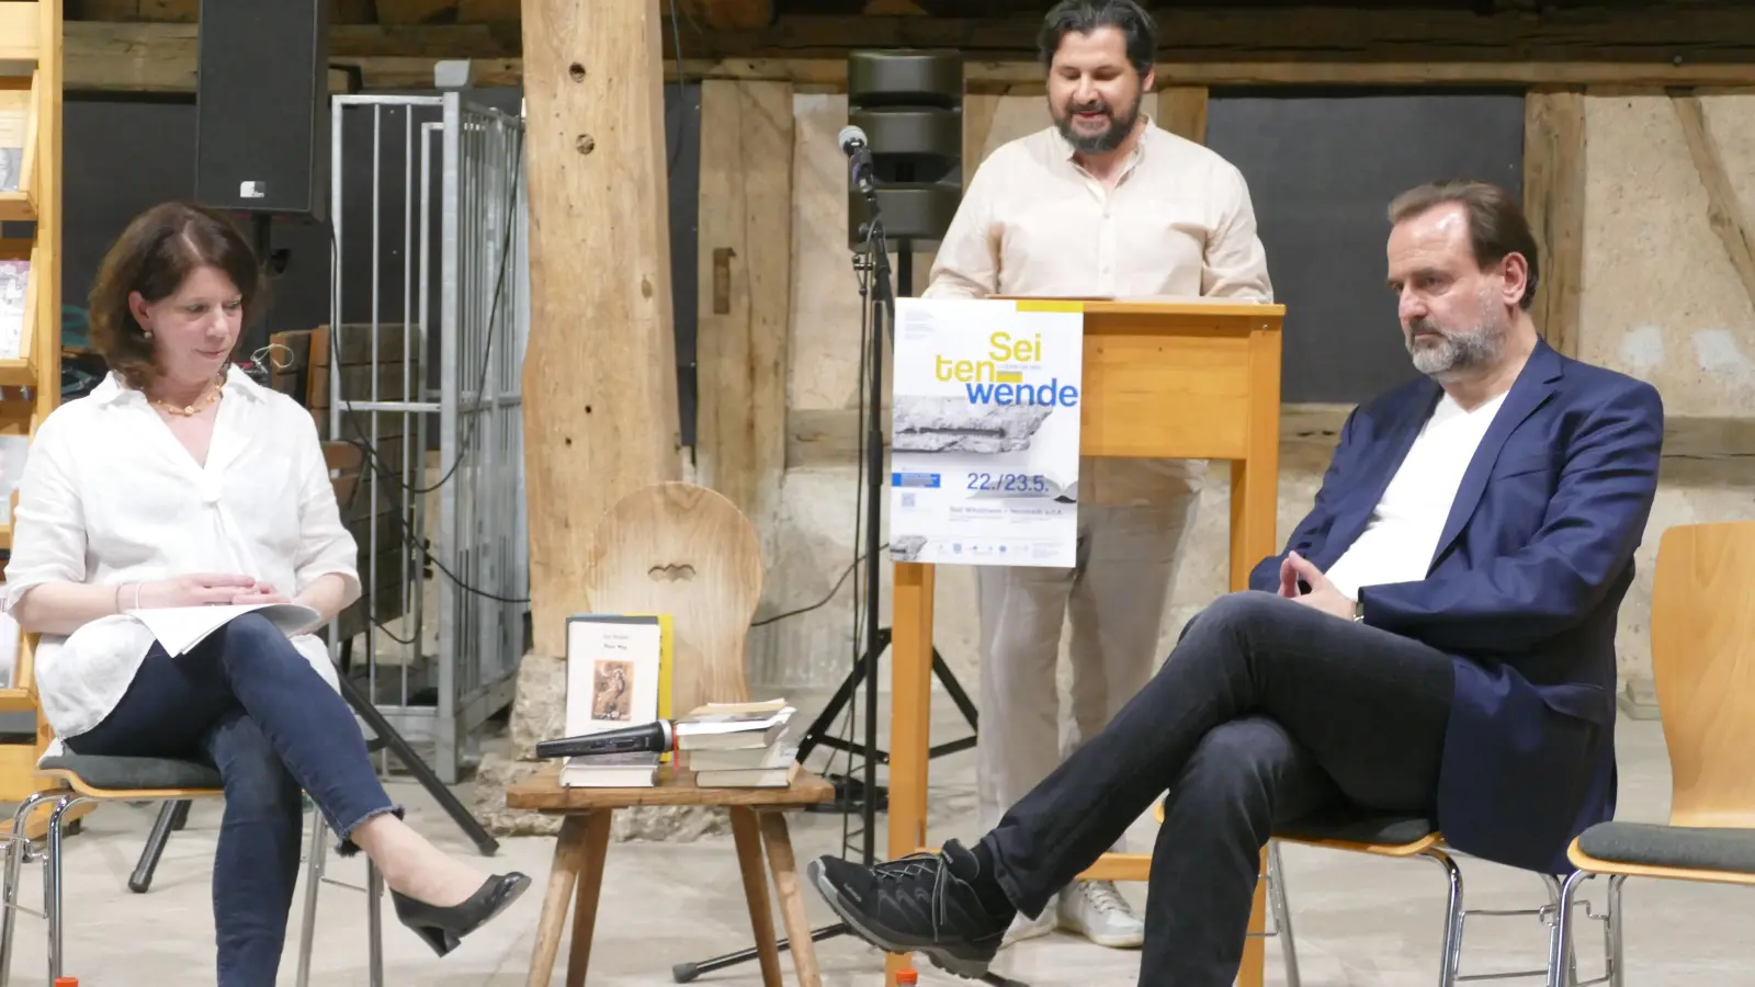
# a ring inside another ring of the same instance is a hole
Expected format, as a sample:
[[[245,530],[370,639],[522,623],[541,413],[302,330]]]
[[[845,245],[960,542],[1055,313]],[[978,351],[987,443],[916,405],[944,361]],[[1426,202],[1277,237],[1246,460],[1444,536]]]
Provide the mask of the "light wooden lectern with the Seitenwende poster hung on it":
[[[1230,588],[1278,550],[1279,323],[1285,306],[1207,300],[1088,300],[1079,450],[1086,457],[1230,460]],[[934,569],[895,564],[890,711],[890,857],[927,843]],[[1083,876],[1137,880],[1150,854],[1106,854]],[[1264,864],[1265,873],[1265,864]],[[1250,931],[1264,929],[1257,885]],[[1251,936],[1237,983],[1260,987]],[[906,957],[888,959],[895,983]]]

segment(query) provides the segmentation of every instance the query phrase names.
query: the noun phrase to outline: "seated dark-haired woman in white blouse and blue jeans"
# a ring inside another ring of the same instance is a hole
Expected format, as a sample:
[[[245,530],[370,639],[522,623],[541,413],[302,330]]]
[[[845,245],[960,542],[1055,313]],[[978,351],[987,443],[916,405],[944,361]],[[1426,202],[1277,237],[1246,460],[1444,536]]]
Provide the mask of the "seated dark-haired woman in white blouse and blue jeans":
[[[314,636],[246,613],[170,655],[130,609],[300,602],[325,622],[360,595],[311,413],[232,365],[263,277],[219,213],[137,216],[91,290],[111,376],[37,429],[4,606],[42,634],[37,687],[56,746],[207,760],[225,780],[214,861],[219,985],[274,983],[309,792],[342,854],[365,850],[397,917],[439,955],[530,885],[484,876],[407,824]]]

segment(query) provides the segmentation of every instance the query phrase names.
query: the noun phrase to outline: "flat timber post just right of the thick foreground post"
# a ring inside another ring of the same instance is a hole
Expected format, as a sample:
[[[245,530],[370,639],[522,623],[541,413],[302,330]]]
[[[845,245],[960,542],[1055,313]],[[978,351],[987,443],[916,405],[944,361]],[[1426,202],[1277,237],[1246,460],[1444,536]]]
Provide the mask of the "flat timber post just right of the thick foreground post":
[[[700,84],[697,483],[772,551],[786,469],[792,83]]]

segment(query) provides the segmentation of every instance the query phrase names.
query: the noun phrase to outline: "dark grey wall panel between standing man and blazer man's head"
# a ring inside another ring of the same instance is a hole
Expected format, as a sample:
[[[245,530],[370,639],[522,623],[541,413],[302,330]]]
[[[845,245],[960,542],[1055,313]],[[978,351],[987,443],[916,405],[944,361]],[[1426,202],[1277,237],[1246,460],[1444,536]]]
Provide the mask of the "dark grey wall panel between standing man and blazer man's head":
[[[1285,400],[1357,402],[1415,376],[1385,286],[1390,198],[1446,177],[1522,198],[1523,95],[1218,90],[1207,146],[1250,183],[1286,306]]]

